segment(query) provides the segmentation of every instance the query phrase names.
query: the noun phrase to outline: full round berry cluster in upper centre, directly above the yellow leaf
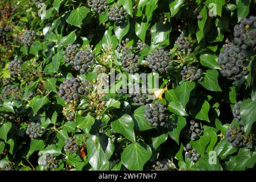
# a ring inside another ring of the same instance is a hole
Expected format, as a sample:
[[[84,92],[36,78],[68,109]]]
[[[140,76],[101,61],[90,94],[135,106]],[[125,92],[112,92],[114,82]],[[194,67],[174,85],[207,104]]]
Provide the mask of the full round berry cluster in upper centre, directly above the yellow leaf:
[[[149,68],[154,72],[159,73],[168,73],[170,68],[170,53],[168,51],[164,51],[162,47],[159,47],[154,52],[150,53],[147,56],[147,60],[149,62]]]

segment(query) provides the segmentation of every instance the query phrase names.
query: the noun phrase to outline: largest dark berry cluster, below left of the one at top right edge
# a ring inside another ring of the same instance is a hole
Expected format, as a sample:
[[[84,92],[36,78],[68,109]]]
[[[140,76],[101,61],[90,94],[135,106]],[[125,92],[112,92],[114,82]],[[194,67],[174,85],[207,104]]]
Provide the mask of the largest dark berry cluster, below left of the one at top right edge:
[[[218,56],[218,64],[221,65],[221,74],[230,80],[240,80],[247,75],[246,53],[239,46],[232,43],[225,44],[224,51]]]

